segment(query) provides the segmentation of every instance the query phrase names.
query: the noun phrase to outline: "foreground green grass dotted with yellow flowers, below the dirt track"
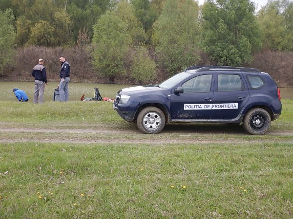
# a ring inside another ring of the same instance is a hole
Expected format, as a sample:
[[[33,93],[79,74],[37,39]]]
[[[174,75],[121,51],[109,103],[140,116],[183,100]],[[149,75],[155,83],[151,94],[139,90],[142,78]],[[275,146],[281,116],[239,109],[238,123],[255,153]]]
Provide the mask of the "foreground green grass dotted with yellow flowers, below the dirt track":
[[[1,218],[293,214],[293,144],[0,144],[0,162]]]

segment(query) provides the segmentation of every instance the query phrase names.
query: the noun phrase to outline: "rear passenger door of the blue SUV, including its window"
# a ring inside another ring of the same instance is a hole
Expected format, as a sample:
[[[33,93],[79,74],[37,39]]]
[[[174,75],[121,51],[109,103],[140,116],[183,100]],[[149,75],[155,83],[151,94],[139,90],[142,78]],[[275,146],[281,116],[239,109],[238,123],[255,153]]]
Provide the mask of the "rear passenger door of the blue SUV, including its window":
[[[235,119],[248,99],[249,91],[242,73],[216,72],[211,119]]]

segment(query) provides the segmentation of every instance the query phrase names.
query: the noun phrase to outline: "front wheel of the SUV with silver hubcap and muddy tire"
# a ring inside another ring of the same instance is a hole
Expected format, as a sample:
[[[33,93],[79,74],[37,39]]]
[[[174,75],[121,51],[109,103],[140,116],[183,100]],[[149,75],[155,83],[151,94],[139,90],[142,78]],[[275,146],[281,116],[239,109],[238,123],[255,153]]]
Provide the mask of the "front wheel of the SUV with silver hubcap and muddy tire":
[[[146,134],[155,134],[162,131],[165,126],[165,115],[156,107],[147,107],[137,116],[137,127]]]

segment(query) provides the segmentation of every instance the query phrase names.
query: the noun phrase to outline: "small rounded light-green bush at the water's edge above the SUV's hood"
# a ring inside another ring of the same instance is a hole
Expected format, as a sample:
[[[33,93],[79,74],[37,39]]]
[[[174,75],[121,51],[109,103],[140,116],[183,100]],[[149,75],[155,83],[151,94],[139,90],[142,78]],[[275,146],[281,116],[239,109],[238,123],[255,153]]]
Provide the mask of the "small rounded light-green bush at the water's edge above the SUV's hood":
[[[148,55],[148,51],[144,47],[140,47],[131,66],[131,77],[134,78],[139,85],[152,80],[156,76],[156,63]]]

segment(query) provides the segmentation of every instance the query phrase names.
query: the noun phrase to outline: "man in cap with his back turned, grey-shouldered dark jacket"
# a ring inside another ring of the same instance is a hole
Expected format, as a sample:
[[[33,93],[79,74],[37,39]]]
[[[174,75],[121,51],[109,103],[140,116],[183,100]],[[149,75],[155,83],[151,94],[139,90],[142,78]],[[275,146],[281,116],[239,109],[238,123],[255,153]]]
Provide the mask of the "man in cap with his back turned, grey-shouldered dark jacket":
[[[47,82],[46,69],[43,66],[44,60],[39,59],[39,64],[33,68],[32,75],[35,77],[35,93],[34,93],[34,103],[43,103],[43,95],[45,91],[45,85]],[[38,101],[39,100],[39,101]]]

